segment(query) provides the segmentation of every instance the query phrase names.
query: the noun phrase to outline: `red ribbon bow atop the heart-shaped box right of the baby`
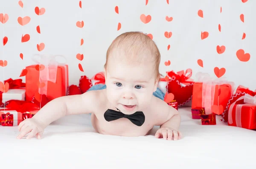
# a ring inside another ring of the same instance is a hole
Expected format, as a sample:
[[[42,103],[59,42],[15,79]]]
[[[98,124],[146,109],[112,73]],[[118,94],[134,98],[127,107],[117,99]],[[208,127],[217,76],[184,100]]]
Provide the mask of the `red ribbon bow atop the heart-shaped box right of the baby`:
[[[175,73],[174,71],[166,72],[169,76],[169,79],[178,80],[180,83],[184,85],[188,85],[192,83],[193,79],[189,79],[192,76],[192,69],[187,69],[186,72],[184,70],[178,71]]]

